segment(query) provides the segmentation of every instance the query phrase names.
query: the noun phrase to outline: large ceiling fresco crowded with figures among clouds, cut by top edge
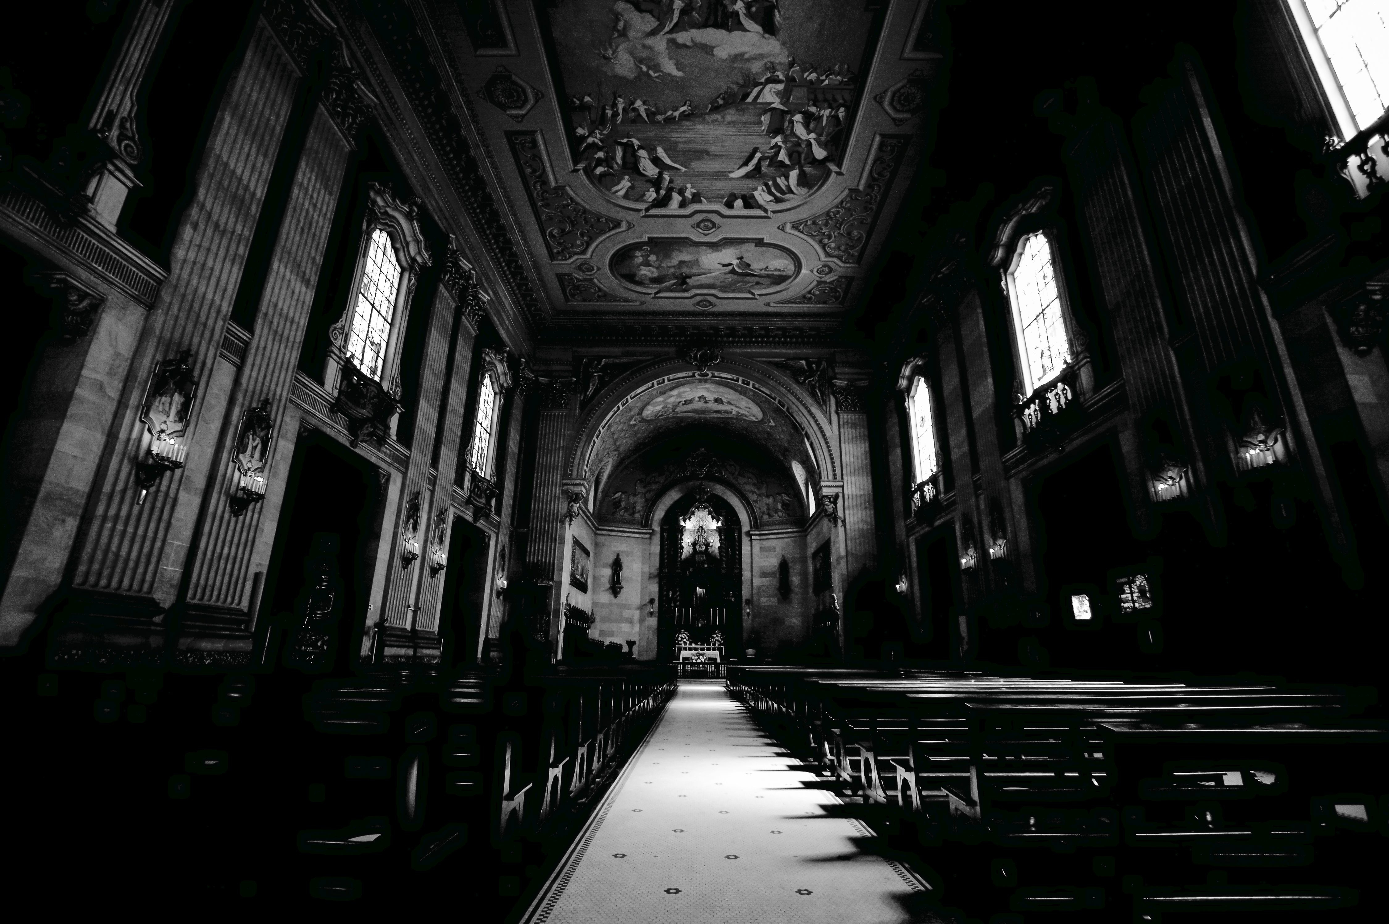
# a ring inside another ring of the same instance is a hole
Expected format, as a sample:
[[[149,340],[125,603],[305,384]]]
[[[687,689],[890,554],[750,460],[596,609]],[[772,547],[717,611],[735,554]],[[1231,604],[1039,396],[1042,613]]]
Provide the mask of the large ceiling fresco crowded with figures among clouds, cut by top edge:
[[[574,150],[650,210],[775,210],[842,172],[874,14],[857,0],[560,0]]]

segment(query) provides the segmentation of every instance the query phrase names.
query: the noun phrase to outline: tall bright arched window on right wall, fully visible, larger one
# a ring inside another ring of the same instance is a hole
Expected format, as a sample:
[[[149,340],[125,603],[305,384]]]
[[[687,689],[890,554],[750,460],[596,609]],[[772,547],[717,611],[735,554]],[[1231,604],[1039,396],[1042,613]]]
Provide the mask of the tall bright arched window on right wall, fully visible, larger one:
[[[1008,279],[1008,297],[1013,300],[1031,395],[1071,361],[1051,245],[1040,231],[1028,235],[1018,245]]]

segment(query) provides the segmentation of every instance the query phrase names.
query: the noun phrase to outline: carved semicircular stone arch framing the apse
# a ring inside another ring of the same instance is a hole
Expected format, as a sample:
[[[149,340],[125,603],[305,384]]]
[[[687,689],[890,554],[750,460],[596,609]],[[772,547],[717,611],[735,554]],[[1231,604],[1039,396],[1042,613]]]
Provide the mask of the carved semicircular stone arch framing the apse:
[[[765,404],[778,418],[785,418],[795,427],[797,440],[808,453],[807,461],[815,481],[840,478],[839,459],[829,439],[825,413],[775,372],[745,357],[724,357],[715,368],[706,370],[678,357],[661,357],[615,379],[599,392],[579,421],[578,435],[569,447],[568,477],[590,481],[590,496],[597,493],[601,488],[597,484],[599,475],[611,471],[615,463],[615,459],[604,457],[604,449],[617,445],[617,431],[621,428],[615,424],[625,424],[626,417],[633,417],[635,411],[663,392],[699,382],[711,388],[750,392],[751,403]],[[635,403],[640,407],[633,407]],[[729,415],[733,414],[736,410],[731,407]],[[767,447],[774,449],[771,445]]]

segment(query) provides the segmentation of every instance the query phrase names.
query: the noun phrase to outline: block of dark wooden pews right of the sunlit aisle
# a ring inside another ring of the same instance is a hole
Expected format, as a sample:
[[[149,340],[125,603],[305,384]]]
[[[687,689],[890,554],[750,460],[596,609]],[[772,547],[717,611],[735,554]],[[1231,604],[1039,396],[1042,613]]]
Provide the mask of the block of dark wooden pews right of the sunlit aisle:
[[[967,914],[1382,907],[1371,691],[742,664],[728,686]]]

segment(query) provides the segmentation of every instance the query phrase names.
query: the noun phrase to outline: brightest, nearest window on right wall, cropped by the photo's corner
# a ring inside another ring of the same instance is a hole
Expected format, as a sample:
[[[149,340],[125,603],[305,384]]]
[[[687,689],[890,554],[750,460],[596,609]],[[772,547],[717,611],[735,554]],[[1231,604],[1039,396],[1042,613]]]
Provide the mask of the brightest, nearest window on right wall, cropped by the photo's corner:
[[[1389,108],[1389,10],[1383,0],[1288,0],[1342,140]]]

